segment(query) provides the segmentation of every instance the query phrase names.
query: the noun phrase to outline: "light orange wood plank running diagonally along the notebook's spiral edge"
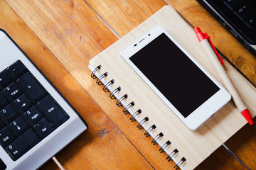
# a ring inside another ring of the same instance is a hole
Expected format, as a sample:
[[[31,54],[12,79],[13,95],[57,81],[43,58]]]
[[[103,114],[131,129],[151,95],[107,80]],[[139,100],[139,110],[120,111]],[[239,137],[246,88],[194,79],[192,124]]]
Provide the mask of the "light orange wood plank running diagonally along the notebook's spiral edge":
[[[91,80],[91,72],[87,69],[89,60],[115,42],[117,37],[83,1],[10,0],[8,3],[154,168],[169,169],[174,166],[173,162],[159,162],[159,159],[166,159],[167,156],[159,154],[159,147],[151,145],[152,139],[144,137],[144,131],[137,130],[137,124],[130,123],[128,115],[123,115],[122,110],[116,108],[114,101],[110,101],[102,91],[102,87],[95,86],[95,81]],[[94,145],[93,143],[90,145]],[[123,144],[122,147],[125,152],[130,152],[126,145]],[[75,156],[67,160],[69,153],[66,153],[57,156],[66,168],[73,166],[73,162],[79,162]],[[101,159],[114,156],[116,157],[110,153],[102,155]],[[124,159],[119,164],[126,164],[124,162],[129,159]],[[137,162],[140,162],[139,159]]]

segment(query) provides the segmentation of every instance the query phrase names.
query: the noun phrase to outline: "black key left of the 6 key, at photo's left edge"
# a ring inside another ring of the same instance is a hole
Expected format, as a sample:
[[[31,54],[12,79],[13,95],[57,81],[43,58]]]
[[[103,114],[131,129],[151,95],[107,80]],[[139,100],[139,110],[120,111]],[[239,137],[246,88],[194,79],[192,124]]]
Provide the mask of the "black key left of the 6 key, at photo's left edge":
[[[6,106],[0,111],[0,118],[6,125],[11,123],[11,120],[14,120],[16,117],[18,117],[18,113],[11,105]]]

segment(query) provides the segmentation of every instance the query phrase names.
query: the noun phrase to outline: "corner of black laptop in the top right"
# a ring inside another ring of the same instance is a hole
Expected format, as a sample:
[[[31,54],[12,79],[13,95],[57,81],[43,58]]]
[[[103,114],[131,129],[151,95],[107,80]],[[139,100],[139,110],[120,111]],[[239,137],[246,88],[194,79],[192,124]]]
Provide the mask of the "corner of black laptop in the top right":
[[[255,0],[197,0],[256,56]]]

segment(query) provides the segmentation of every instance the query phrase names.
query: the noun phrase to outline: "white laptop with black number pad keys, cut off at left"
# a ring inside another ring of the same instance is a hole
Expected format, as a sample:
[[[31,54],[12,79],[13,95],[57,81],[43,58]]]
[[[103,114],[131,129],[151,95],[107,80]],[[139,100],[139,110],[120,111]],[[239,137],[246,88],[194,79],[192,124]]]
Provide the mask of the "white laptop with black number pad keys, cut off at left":
[[[0,61],[0,170],[38,169],[87,124],[1,29]]]

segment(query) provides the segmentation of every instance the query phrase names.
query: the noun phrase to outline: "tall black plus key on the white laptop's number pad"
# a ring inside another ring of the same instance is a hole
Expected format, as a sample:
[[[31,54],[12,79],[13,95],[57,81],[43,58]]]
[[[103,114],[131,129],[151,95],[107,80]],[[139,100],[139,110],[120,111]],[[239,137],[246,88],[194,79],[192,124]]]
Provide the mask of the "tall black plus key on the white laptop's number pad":
[[[24,74],[17,82],[21,86],[21,89],[26,92],[28,98],[31,98],[31,101],[35,103],[43,98],[43,96],[46,96],[46,91],[39,85],[38,81],[33,79],[30,73]]]

